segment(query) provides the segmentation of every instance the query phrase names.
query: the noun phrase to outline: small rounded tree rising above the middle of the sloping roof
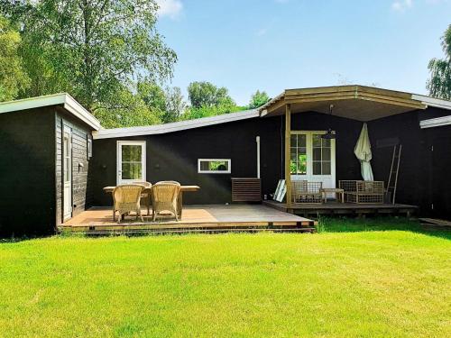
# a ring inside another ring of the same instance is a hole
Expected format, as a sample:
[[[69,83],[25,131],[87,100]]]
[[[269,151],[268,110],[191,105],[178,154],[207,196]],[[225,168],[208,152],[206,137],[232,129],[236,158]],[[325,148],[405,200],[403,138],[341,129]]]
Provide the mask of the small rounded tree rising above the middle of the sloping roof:
[[[216,87],[207,81],[191,82],[188,87],[188,96],[191,106],[195,108],[235,105],[234,100],[228,96],[226,87]]]

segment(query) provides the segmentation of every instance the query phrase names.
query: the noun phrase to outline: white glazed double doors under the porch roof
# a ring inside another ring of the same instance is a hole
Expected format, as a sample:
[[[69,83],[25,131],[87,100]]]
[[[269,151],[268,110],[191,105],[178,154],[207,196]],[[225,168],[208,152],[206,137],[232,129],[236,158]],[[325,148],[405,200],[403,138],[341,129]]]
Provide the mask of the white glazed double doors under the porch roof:
[[[325,131],[291,132],[291,179],[323,182],[336,187],[336,140],[322,139]]]

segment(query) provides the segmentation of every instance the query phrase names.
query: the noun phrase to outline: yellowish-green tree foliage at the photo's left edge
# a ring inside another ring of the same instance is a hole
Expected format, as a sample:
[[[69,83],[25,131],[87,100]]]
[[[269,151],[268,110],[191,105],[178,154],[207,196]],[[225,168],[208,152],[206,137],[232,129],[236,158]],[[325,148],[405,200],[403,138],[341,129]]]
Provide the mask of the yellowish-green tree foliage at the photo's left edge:
[[[0,16],[0,101],[13,100],[29,86],[18,54],[21,37],[8,20]]]

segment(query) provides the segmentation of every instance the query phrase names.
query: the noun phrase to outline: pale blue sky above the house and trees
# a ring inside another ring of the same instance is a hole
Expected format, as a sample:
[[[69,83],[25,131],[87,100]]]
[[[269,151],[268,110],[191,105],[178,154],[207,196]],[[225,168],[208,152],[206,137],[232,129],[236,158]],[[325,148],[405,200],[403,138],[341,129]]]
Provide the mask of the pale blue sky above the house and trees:
[[[427,94],[451,0],[158,0],[177,52],[171,86],[210,81],[245,105],[257,89],[376,85]]]

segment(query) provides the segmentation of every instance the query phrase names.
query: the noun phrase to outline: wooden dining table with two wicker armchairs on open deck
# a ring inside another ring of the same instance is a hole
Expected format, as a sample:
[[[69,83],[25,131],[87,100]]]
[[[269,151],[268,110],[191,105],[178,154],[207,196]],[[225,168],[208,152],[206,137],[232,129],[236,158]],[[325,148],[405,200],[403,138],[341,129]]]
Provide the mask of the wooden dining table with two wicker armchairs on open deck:
[[[117,223],[124,219],[125,215],[136,214],[143,222],[141,202],[147,207],[147,215],[150,215],[152,206],[152,221],[156,221],[158,215],[172,215],[176,221],[181,219],[183,210],[183,192],[198,191],[198,186],[181,186],[176,181],[161,181],[154,185],[150,182],[133,182],[133,184],[117,187],[104,187],[106,193],[113,196],[113,220],[116,213],[119,214]]]

